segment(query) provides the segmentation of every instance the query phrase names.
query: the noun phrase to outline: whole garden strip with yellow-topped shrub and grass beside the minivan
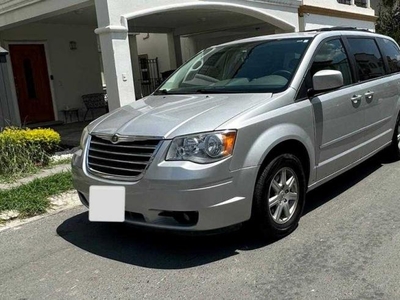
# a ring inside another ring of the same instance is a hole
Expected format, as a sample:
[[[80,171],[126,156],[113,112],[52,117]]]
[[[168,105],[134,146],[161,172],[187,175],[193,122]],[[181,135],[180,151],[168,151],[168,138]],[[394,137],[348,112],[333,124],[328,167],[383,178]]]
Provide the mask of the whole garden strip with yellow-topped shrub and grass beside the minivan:
[[[0,223],[64,203],[64,193],[73,189],[70,162],[77,149],[60,145],[60,140],[53,129],[0,132]]]

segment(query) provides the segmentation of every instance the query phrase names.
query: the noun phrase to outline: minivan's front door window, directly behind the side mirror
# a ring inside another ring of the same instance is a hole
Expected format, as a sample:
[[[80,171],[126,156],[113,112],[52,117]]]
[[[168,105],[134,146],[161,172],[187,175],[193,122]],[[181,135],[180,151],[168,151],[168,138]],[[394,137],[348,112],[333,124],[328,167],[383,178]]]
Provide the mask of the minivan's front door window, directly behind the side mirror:
[[[342,72],[344,85],[353,82],[349,60],[339,39],[324,42],[321,48],[319,48],[311,66],[311,77],[321,70],[337,70]]]

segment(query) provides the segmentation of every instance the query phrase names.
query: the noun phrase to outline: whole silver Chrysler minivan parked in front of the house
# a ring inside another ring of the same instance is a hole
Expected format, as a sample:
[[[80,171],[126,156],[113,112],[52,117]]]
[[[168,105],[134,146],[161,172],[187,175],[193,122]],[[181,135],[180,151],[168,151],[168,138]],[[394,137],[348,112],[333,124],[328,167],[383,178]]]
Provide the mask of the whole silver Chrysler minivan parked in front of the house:
[[[390,147],[400,156],[400,50],[331,28],[201,51],[152,95],[85,128],[74,186],[92,221],[293,231],[307,191]]]

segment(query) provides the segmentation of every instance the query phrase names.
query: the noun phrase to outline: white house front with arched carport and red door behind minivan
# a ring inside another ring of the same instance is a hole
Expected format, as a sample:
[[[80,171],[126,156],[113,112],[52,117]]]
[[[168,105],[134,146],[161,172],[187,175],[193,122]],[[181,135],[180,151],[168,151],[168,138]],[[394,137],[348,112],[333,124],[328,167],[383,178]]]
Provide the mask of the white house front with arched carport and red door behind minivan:
[[[71,108],[83,115],[82,95],[104,90],[116,109],[221,42],[331,26],[374,30],[369,1],[0,0],[10,119],[52,122]]]

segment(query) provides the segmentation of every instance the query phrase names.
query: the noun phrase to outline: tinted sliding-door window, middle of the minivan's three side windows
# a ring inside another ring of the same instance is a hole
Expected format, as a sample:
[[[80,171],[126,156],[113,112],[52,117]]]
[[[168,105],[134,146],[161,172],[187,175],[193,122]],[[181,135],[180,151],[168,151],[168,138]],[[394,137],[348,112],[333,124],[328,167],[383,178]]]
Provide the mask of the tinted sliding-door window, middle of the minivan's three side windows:
[[[385,69],[378,46],[373,39],[348,39],[356,59],[360,81],[383,76]]]

